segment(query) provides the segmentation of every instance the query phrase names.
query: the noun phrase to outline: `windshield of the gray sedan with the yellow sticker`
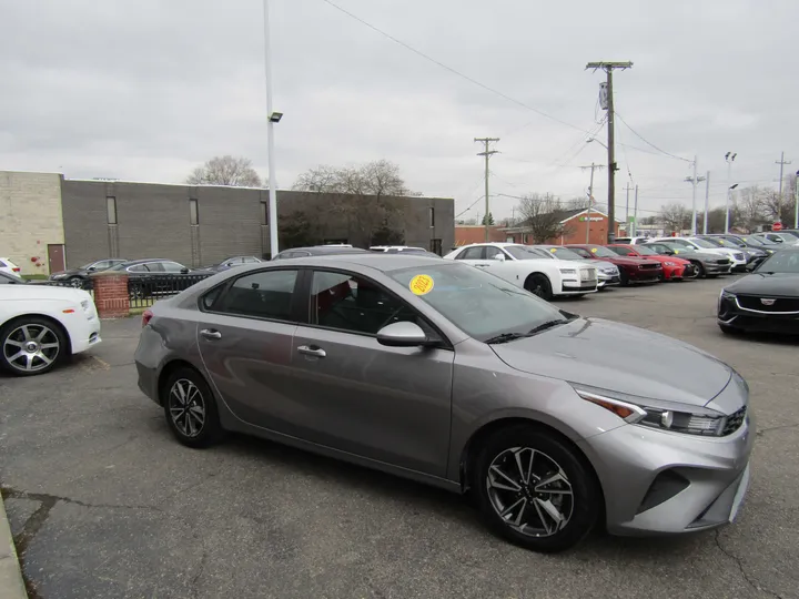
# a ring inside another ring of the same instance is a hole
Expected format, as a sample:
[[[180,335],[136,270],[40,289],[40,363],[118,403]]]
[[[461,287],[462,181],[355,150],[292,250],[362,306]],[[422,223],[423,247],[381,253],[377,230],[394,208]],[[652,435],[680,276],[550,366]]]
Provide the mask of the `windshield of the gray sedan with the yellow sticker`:
[[[544,300],[467,264],[414,266],[386,274],[406,287],[421,277],[428,280],[425,293],[411,291],[461,331],[482,342],[504,333],[527,334],[553,321],[567,321]]]

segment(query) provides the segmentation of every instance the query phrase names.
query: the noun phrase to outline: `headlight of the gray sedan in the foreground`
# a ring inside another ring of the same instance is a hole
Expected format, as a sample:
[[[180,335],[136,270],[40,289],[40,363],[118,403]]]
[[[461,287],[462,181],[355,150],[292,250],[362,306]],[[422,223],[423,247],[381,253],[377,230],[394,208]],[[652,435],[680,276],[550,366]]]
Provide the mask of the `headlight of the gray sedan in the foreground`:
[[[727,416],[712,409],[634,397],[605,389],[573,385],[583,399],[613,412],[623,420],[648,428],[720,437],[727,425]]]

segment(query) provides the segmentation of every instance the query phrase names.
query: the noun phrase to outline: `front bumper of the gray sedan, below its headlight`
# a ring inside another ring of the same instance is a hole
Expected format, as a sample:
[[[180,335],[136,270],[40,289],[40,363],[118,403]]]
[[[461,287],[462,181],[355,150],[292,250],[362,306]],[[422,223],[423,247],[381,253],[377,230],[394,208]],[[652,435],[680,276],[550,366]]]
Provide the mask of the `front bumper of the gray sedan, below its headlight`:
[[[626,425],[580,441],[605,494],[614,535],[679,535],[736,517],[749,483],[755,422],[727,437]]]

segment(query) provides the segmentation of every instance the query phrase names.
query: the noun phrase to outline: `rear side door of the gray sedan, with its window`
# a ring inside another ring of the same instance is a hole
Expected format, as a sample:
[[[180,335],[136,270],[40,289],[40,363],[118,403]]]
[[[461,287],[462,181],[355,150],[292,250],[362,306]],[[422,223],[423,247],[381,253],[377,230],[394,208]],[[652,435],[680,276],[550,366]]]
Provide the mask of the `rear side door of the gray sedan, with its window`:
[[[220,397],[247,424],[290,433],[296,268],[250,272],[201,298],[196,339]]]

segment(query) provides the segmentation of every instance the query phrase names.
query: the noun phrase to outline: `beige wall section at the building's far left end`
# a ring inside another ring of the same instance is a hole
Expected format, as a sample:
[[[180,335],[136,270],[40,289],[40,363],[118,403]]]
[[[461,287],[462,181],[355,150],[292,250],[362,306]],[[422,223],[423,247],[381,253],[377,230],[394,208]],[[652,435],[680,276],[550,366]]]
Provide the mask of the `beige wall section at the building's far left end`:
[[[0,171],[0,256],[48,275],[48,245],[63,243],[61,175]]]

